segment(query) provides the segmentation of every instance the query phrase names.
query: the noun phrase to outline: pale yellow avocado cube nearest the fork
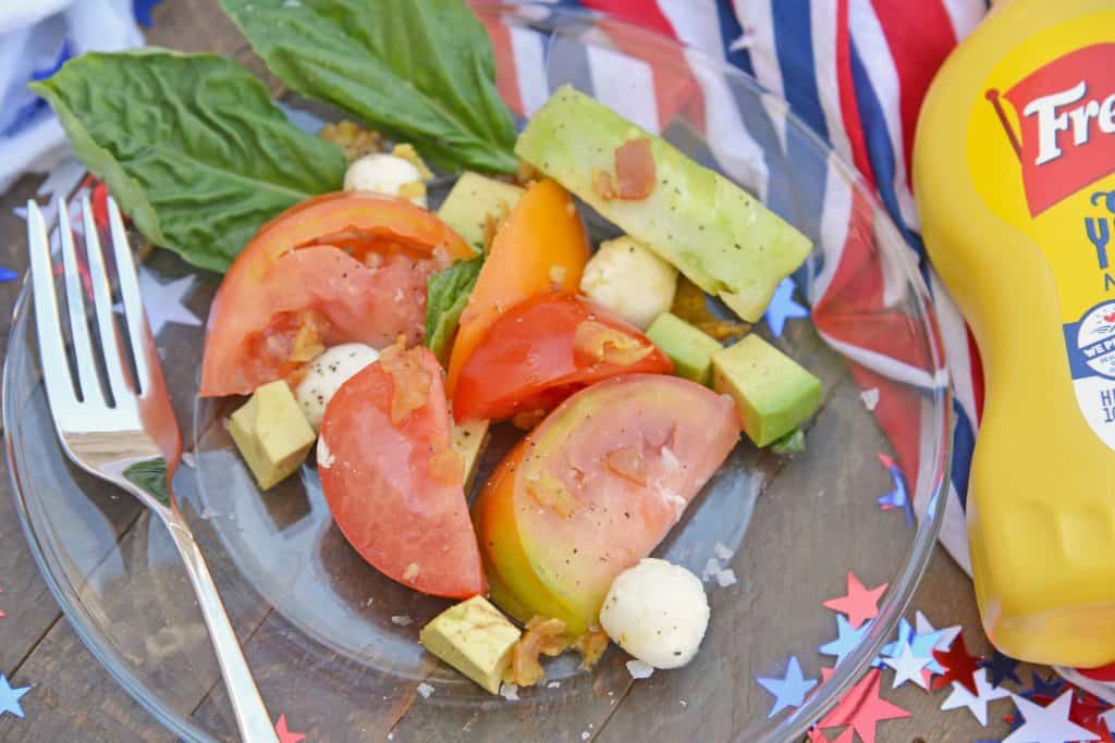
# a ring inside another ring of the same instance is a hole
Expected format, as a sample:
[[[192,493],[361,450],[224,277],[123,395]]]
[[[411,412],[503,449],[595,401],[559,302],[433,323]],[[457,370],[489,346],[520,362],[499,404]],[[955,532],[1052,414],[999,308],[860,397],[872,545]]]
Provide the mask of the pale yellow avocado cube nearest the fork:
[[[299,468],[316,438],[306,413],[282,380],[255,390],[232,414],[229,433],[264,490]]]

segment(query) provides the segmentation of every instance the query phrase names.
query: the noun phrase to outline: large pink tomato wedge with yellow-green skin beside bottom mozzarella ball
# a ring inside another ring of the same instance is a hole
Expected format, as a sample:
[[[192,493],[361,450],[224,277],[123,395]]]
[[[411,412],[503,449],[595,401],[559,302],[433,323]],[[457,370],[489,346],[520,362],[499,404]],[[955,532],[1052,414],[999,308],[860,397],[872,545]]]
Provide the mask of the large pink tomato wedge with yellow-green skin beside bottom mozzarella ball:
[[[660,374],[617,377],[569,398],[512,451],[473,506],[492,598],[570,635],[615,576],[678,522],[739,440],[731,400]]]

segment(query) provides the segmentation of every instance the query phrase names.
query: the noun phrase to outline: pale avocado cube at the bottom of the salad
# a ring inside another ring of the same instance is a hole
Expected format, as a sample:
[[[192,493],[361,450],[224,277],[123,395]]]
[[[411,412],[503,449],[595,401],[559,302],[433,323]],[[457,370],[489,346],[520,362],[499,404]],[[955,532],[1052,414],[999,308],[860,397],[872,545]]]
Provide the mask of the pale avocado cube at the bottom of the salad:
[[[418,641],[488,692],[498,694],[520,635],[518,627],[500,609],[483,596],[473,596],[434,617],[418,633]]]

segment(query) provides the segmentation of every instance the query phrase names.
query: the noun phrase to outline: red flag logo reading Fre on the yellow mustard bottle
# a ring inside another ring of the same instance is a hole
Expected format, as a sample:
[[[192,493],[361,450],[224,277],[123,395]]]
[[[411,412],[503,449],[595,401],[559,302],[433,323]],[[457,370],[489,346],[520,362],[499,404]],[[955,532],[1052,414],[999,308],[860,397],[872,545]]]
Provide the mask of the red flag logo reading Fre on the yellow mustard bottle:
[[[1115,173],[1115,43],[1077,49],[1035,70],[1004,95],[1021,141],[1000,110],[1022,166],[1030,216]],[[998,92],[988,91],[998,106]]]

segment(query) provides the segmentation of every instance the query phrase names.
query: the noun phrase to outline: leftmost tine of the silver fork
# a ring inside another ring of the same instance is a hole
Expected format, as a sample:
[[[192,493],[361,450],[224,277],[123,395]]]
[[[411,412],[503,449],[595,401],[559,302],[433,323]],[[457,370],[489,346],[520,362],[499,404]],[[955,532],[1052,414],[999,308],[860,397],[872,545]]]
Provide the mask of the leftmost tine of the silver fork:
[[[58,324],[58,297],[50,263],[50,239],[42,213],[35,201],[27,202],[27,243],[31,257],[31,291],[35,299],[35,326],[39,338],[39,360],[47,400],[59,420],[67,407],[77,404],[70,380],[66,344]]]

